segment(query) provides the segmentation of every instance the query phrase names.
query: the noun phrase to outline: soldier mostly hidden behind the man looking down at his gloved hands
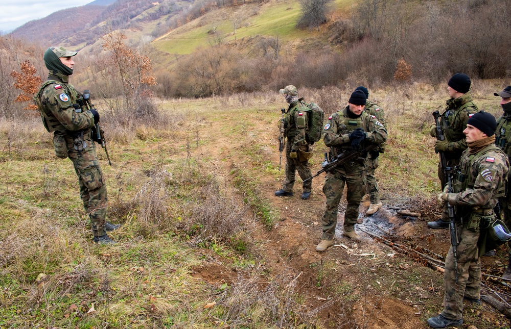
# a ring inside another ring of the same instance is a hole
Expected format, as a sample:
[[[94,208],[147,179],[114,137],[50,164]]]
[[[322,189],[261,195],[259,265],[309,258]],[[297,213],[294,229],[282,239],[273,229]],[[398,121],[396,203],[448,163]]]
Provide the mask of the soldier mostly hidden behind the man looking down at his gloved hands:
[[[366,97],[369,97],[369,91],[364,86],[357,87],[355,90],[362,90],[365,93]],[[378,106],[378,104],[367,100],[365,104],[364,112],[369,114],[373,119],[377,119],[385,128],[387,128],[387,121],[385,120],[385,113],[383,109]],[[380,144],[378,149],[374,149],[369,151],[367,155],[367,169],[365,170],[366,176],[366,193],[362,197],[362,201],[367,199],[370,200],[369,209],[367,209],[366,215],[373,215],[380,209],[383,204],[380,201],[380,192],[378,191],[378,182],[376,181],[375,171],[379,166],[378,157],[380,153],[385,151],[385,144]]]

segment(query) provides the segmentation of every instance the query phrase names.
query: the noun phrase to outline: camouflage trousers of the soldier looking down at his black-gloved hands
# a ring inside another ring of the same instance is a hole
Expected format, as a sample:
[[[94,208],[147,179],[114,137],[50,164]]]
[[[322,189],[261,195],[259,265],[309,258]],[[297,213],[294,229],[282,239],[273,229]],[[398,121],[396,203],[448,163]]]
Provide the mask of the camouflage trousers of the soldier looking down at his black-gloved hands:
[[[364,169],[364,165],[351,162],[347,166],[336,168],[327,174],[323,184],[323,193],[327,197],[327,204],[321,222],[323,227],[322,240],[332,240],[334,238],[337,210],[345,184],[347,185],[347,206],[344,213],[344,232],[355,230],[358,208],[366,183]]]

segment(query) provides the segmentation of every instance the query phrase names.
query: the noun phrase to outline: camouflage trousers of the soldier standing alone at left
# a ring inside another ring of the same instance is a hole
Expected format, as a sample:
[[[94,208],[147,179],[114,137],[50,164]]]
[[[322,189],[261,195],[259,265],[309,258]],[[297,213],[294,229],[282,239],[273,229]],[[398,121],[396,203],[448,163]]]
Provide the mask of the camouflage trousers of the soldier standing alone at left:
[[[92,226],[92,234],[99,237],[106,234],[106,208],[108,197],[106,194],[106,181],[103,171],[99,166],[96,146],[92,140],[84,141],[86,147],[81,151],[73,148],[74,143],[69,145],[69,159],[73,162],[78,185],[80,186],[80,198],[83,201],[83,208],[89,215]],[[70,147],[71,146],[71,147]]]

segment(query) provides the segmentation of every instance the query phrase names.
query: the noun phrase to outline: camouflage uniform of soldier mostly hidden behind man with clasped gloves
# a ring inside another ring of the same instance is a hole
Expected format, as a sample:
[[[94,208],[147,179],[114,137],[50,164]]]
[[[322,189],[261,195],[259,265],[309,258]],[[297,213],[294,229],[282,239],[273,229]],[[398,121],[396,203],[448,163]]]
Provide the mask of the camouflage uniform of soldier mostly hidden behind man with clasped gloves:
[[[377,104],[367,100],[364,112],[371,115],[373,119],[377,119],[385,128],[387,128],[387,121],[385,121],[385,113],[383,109]],[[378,157],[380,153],[385,151],[385,144],[381,144],[379,149],[369,151],[367,155],[367,169],[365,170],[367,180],[367,192],[370,195],[371,204],[380,203],[380,192],[378,191],[378,182],[375,177],[375,170],[379,166]]]

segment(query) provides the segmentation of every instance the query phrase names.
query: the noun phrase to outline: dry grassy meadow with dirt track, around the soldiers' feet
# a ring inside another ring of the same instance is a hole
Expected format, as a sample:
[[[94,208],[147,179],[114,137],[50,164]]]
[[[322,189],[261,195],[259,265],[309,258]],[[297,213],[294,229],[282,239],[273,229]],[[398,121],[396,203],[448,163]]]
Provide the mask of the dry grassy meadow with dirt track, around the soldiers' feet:
[[[298,95],[328,115],[356,87]],[[475,103],[498,117],[493,92],[503,87],[474,81]],[[324,174],[308,200],[299,178],[293,197],[273,195],[284,179],[277,120],[287,106],[276,92],[158,99],[157,118],[129,125],[113,124],[96,100],[112,161],[98,148],[107,218],[122,223],[108,246],[91,242],[72,163],[55,157],[38,114],[0,120],[0,327],[427,328],[442,310],[443,273],[385,241],[447,253],[448,231],[426,227],[440,190],[428,131],[447,98],[446,85],[369,90],[388,122],[376,171],[384,206],[364,217],[363,203],[357,227],[376,229],[359,243],[339,234],[322,254]],[[314,148],[313,174],[327,150]],[[495,276],[483,283],[511,302],[496,278],[506,264],[504,248],[483,258]],[[510,327],[487,303],[465,305],[463,321]]]

